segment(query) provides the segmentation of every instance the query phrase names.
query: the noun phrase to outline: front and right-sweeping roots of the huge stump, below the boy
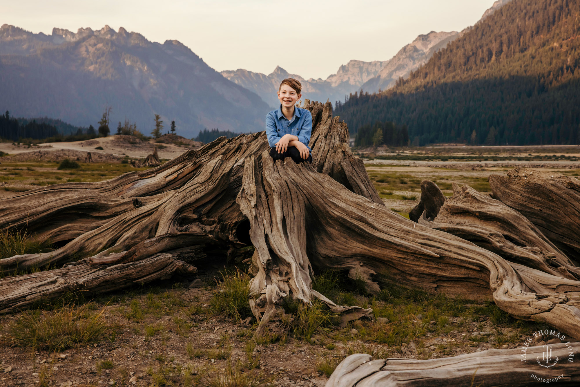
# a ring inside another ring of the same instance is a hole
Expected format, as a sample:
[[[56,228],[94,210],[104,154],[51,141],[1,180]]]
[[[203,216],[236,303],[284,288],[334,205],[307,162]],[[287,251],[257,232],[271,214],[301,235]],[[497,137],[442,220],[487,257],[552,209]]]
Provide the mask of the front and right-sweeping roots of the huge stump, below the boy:
[[[462,238],[405,220],[308,164],[274,164],[263,153],[245,168],[238,202],[250,219],[264,267],[252,282],[252,290],[265,295],[259,307],[271,309],[289,291],[309,300],[310,264],[358,269],[379,284],[394,279],[445,294],[492,297],[517,318],[580,337],[580,302],[572,299],[580,295],[580,282],[510,263]]]

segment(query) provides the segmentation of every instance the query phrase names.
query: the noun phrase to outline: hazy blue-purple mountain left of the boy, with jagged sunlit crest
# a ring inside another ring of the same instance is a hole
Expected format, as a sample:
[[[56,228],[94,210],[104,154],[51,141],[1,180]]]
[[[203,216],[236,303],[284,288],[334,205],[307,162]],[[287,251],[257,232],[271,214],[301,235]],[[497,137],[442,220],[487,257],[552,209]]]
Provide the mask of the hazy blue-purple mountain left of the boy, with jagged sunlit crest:
[[[262,130],[269,106],[255,93],[222,77],[176,40],[150,42],[108,26],[52,35],[0,27],[0,107],[13,117],[53,117],[77,126],[125,118],[148,134],[154,114],[177,133],[204,128]]]

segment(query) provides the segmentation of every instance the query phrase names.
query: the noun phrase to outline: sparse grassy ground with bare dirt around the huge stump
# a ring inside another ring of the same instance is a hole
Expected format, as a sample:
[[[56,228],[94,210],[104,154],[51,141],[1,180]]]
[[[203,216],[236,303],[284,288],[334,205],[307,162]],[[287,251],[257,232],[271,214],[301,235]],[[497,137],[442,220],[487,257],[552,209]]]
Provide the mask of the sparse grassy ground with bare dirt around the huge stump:
[[[445,196],[452,195],[452,183],[490,193],[487,175],[511,169],[480,164],[441,167],[440,155],[438,160],[416,160],[432,164],[415,166],[367,156],[367,172],[380,197],[387,208],[405,217],[418,204],[424,179],[436,182]],[[144,169],[76,164],[2,162],[0,187],[13,196],[56,183],[96,182]],[[578,176],[580,167],[559,164],[553,171]],[[0,235],[0,258],[50,249],[49,242],[35,241],[26,232]],[[5,377],[14,384],[43,387],[68,382],[321,386],[352,353],[432,359],[517,348],[543,328],[534,321],[513,319],[491,300],[474,301],[468,294],[451,298],[389,282],[382,284],[379,294],[369,294],[364,281],[351,280],[346,273],[315,272],[315,290],[339,305],[372,308],[375,319],[340,327],[321,303],[285,302],[287,314],[277,328],[253,341],[257,324],[248,304],[249,266],[228,263],[219,254],[212,258],[198,266],[191,288],[193,278],[175,276],[103,294],[71,291],[30,310],[0,316],[3,366],[10,367]]]

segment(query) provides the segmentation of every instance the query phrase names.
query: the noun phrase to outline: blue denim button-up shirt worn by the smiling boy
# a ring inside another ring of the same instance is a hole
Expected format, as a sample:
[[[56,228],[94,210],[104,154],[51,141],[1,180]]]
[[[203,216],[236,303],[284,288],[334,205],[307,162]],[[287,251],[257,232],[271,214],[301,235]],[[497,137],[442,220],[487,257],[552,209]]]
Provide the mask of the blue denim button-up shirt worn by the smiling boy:
[[[282,136],[289,134],[297,136],[298,140],[305,144],[310,153],[312,153],[308,146],[311,132],[312,115],[309,110],[295,106],[292,120],[288,121],[282,114],[282,105],[280,104],[279,108],[270,111],[266,115],[266,136],[268,136],[268,143],[271,148],[276,146]]]

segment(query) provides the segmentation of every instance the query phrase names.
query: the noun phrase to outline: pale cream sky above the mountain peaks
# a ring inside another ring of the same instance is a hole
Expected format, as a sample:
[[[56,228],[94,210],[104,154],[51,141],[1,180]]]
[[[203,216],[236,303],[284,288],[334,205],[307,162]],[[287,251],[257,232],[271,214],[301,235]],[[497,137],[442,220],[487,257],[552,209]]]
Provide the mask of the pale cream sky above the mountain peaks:
[[[0,0],[0,25],[51,34],[108,24],[177,39],[218,71],[277,65],[326,79],[351,59],[387,60],[419,34],[461,31],[494,0]]]

